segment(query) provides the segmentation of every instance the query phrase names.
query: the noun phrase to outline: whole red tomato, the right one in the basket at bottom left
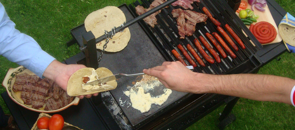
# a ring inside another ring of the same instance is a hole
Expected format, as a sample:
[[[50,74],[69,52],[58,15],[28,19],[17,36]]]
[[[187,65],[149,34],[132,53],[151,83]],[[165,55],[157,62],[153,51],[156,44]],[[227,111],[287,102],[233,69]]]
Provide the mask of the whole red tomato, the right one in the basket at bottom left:
[[[50,130],[61,130],[63,129],[63,124],[64,124],[63,116],[60,114],[54,114],[51,116],[49,119],[49,129]]]

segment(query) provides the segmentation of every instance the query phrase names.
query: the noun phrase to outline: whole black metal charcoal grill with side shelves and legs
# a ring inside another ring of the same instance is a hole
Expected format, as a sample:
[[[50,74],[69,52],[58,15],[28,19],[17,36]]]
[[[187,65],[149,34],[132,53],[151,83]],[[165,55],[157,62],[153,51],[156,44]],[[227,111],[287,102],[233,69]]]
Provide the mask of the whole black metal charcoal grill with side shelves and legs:
[[[278,4],[273,0],[267,2],[278,25],[286,11],[278,8]],[[142,5],[147,8],[151,1],[142,0],[141,3],[136,1],[128,6],[126,4],[119,6],[124,12],[127,21],[137,17],[135,6]],[[246,46],[244,50],[239,47],[239,51],[235,52],[237,55],[235,59],[227,57],[222,59],[221,63],[214,64],[203,60],[206,64],[205,67],[200,66],[195,61],[198,67],[195,67],[194,71],[207,74],[255,73],[262,65],[286,51],[286,47],[282,42],[261,46],[246,26],[238,19],[234,11],[231,11],[236,8],[236,4],[239,4],[239,1],[201,0],[201,3],[193,4],[194,11],[201,13],[203,13],[201,7],[207,7],[214,18],[221,22],[222,27],[225,24],[229,24]],[[176,21],[171,15],[171,10],[176,8],[180,7],[170,5],[169,8],[163,9],[157,15],[158,24],[155,28],[151,28],[144,21],[132,24],[129,27],[131,39],[127,47],[115,53],[106,52],[101,59],[99,67],[106,67],[114,74],[122,72],[126,74],[139,73],[142,69],[160,65],[163,61],[176,61],[176,58],[171,54],[172,49],[177,50],[186,64],[190,65],[176,46],[181,44],[185,47],[186,44],[191,44],[194,47],[192,41],[196,37],[206,32],[210,34],[212,32],[219,32],[216,30],[216,26],[207,20],[206,24],[198,23],[196,25],[196,32],[193,36],[179,39]],[[86,37],[84,42],[89,41],[87,37],[91,39],[91,34],[88,35],[86,33],[84,24],[71,29],[71,35],[73,39],[67,44],[77,43],[82,48],[84,46],[83,35]],[[95,54],[99,55],[100,51],[95,52]],[[209,53],[207,52],[207,54]],[[201,55],[199,54],[199,56]],[[191,57],[193,58],[193,56]],[[81,52],[65,60],[65,64],[87,64],[87,58]],[[76,124],[76,126],[83,129],[97,129],[98,127],[100,129],[185,129],[222,104],[227,104],[219,117],[221,121],[219,127],[223,129],[229,122],[235,120],[235,116],[230,114],[230,111],[239,98],[220,94],[190,94],[173,91],[173,95],[165,104],[162,106],[153,105],[152,109],[145,114],[141,114],[131,107],[125,108],[118,105],[120,104],[119,100],[128,100],[126,96],[123,96],[122,91],[125,91],[132,81],[136,81],[136,77],[119,79],[119,86],[114,90],[103,93],[103,99],[100,99],[101,96],[97,96],[81,100],[77,107],[70,107],[68,111],[61,111],[59,114],[64,115],[68,123]],[[160,91],[157,90],[156,92]],[[21,128],[32,128],[36,119],[32,119],[32,116],[37,117],[38,113],[28,111],[17,106],[17,104],[13,104],[13,102],[8,102],[9,97],[5,94],[2,94],[2,96],[14,117],[22,117],[16,119],[18,125]],[[116,104],[117,107],[115,107]],[[115,110],[109,110],[110,107],[115,107]],[[77,121],[77,119],[80,120]],[[96,124],[94,124],[95,122]],[[89,125],[89,123],[92,125]]]

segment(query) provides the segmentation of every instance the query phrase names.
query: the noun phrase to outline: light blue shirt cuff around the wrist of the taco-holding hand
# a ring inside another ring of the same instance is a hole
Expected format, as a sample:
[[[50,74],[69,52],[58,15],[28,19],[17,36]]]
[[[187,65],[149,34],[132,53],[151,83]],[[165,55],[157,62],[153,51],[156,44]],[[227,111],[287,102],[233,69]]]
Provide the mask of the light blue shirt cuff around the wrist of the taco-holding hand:
[[[45,69],[54,60],[54,57],[50,56],[47,52],[40,50],[35,57],[32,58],[30,65],[25,67],[43,79]]]

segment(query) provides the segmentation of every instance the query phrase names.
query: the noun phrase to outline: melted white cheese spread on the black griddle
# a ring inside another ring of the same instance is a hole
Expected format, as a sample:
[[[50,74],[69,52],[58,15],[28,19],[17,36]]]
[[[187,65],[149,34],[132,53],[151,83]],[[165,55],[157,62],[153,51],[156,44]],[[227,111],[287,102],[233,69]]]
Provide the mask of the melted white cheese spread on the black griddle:
[[[155,97],[152,97],[150,93],[145,93],[145,91],[153,90],[155,86],[160,85],[162,85],[162,83],[155,77],[151,78],[144,76],[140,82],[136,82],[130,91],[124,91],[124,94],[130,97],[130,101],[134,109],[144,113],[150,110],[152,104],[161,106],[165,101],[167,101],[168,97],[172,93],[172,90],[167,88],[163,89],[165,92],[164,94]]]

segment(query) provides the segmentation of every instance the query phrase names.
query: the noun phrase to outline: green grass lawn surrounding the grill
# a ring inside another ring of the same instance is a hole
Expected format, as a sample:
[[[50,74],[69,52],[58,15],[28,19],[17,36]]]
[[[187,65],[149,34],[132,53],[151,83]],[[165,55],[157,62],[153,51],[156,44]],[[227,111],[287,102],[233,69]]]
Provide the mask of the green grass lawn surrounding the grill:
[[[16,28],[32,36],[46,52],[58,61],[63,61],[80,52],[77,45],[66,46],[72,39],[70,29],[82,24],[86,16],[105,6],[131,4],[135,0],[1,0],[7,14],[16,23]],[[295,16],[294,0],[276,0],[287,12]],[[258,74],[272,74],[295,79],[295,54],[284,53],[281,60],[273,60],[263,66]],[[0,56],[0,83],[9,68],[19,65]],[[5,92],[0,87],[0,93]],[[3,99],[0,105],[6,114],[9,110]],[[223,106],[224,107],[224,106]],[[219,107],[187,129],[218,129]],[[276,102],[261,102],[241,98],[233,114],[237,120],[226,129],[294,129],[295,109],[291,105]]]

